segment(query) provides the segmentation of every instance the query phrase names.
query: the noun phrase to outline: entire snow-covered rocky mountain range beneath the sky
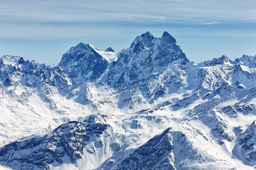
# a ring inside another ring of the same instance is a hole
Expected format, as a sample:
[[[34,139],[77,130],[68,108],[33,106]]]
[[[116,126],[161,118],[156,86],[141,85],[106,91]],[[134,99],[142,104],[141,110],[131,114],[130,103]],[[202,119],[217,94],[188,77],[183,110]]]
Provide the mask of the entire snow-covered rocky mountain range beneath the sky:
[[[254,169],[256,56],[193,63],[168,32],[56,66],[0,59],[0,164],[14,169]]]

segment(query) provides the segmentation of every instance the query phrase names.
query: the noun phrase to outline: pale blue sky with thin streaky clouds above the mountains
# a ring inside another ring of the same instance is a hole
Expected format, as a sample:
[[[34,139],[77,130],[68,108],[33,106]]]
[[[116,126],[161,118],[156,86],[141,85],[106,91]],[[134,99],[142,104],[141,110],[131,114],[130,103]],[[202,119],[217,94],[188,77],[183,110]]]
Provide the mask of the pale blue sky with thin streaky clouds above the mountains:
[[[191,61],[256,55],[256,1],[0,0],[0,56],[58,63],[71,46],[115,52],[164,31]]]

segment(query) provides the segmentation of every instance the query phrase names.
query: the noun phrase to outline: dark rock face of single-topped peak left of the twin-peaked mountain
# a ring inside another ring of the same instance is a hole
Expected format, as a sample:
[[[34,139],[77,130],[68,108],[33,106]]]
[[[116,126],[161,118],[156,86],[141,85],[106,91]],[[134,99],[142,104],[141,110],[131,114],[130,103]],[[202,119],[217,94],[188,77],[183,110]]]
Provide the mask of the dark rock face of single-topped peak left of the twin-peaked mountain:
[[[108,68],[108,62],[92,46],[80,42],[63,55],[59,66],[75,82],[93,82]]]

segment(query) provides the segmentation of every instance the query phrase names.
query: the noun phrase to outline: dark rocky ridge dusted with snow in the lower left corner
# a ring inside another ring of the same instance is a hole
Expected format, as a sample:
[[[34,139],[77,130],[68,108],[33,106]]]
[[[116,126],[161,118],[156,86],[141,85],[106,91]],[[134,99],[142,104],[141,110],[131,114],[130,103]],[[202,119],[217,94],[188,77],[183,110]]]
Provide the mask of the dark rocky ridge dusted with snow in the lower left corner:
[[[89,141],[97,141],[108,127],[97,116],[91,116],[84,122],[71,121],[60,125],[49,135],[34,136],[0,148],[0,163],[24,170],[49,169],[53,162],[75,163],[81,159]],[[64,159],[65,155],[68,160]]]

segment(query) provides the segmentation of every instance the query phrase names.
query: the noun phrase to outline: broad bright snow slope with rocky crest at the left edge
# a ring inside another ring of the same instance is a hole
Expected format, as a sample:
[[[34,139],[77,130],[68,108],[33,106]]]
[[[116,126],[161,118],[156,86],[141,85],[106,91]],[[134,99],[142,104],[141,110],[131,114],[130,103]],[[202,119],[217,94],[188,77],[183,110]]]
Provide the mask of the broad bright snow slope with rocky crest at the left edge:
[[[92,107],[66,98],[64,93],[72,80],[59,66],[11,58],[17,62],[6,65],[0,59],[1,146],[31,134],[46,133],[91,113]]]

